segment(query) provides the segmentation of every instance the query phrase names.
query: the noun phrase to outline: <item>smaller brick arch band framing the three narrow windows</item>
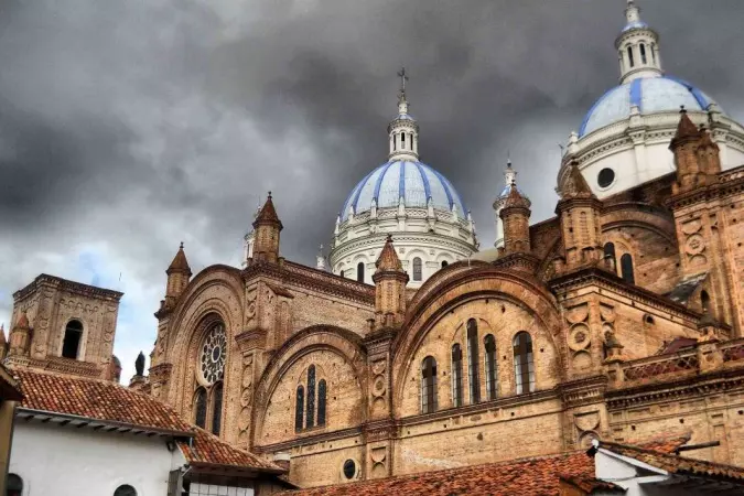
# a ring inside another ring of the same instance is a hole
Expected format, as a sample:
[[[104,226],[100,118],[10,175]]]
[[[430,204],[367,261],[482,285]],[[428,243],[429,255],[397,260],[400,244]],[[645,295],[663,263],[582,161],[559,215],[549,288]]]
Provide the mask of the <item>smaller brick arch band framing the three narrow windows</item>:
[[[251,422],[251,436],[256,444],[260,444],[266,410],[279,381],[300,358],[319,351],[332,352],[351,365],[363,399],[360,411],[367,411],[367,358],[362,346],[362,338],[352,331],[332,325],[305,327],[295,333],[277,351],[263,369],[261,378],[256,386]]]

